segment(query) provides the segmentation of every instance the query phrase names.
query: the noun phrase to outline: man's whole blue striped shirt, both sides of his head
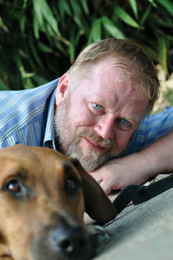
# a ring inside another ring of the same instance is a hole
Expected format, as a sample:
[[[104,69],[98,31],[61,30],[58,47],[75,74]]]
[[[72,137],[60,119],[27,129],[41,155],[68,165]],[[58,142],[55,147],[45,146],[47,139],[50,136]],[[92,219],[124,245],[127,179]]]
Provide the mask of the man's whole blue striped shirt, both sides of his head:
[[[0,148],[15,144],[55,149],[53,116],[59,79],[35,89],[0,92]],[[173,108],[149,115],[134,133],[127,154],[151,145],[173,126]]]

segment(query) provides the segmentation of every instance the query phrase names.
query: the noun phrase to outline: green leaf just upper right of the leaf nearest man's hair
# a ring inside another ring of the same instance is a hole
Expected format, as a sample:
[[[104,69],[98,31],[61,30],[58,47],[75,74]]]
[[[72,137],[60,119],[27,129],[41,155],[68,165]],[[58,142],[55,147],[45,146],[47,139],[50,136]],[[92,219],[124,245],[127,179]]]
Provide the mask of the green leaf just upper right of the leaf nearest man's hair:
[[[116,6],[113,12],[113,15],[116,15],[119,19],[124,21],[129,26],[140,28],[138,23],[129,15],[125,10],[123,10],[120,6]]]

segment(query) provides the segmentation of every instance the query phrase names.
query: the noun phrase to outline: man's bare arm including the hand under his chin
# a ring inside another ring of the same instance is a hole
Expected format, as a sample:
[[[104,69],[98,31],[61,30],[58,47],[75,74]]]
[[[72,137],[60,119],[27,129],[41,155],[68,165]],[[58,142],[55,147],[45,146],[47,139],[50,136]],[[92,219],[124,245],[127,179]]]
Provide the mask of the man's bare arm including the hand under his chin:
[[[90,174],[104,192],[122,189],[129,184],[140,185],[149,178],[173,171],[173,128],[161,140],[136,154],[110,160]]]

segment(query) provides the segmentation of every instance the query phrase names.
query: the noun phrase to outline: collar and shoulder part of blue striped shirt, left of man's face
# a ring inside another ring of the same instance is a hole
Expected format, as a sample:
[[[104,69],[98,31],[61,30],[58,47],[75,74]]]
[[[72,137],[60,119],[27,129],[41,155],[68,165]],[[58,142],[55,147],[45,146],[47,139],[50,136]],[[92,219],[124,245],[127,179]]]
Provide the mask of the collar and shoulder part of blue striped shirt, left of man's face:
[[[15,144],[53,147],[58,81],[35,89],[0,92],[0,148]]]

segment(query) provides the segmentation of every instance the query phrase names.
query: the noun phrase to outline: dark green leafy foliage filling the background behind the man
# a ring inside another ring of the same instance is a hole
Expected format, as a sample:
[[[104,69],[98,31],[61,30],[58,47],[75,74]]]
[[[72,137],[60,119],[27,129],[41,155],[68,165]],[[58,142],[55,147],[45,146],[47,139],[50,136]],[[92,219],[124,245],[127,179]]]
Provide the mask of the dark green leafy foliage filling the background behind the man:
[[[53,80],[108,37],[136,41],[169,75],[172,29],[169,0],[0,0],[0,90]]]

